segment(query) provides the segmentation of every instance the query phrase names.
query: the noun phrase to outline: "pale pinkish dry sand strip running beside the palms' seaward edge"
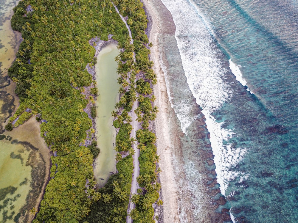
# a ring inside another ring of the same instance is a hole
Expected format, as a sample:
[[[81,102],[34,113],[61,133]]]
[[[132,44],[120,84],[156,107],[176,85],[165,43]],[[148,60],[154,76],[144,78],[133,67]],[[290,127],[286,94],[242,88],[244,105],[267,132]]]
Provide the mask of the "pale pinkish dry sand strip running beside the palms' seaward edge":
[[[155,120],[154,130],[157,136],[157,153],[160,156],[159,167],[162,169],[159,177],[162,184],[161,198],[163,200],[163,205],[157,208],[157,212],[159,213],[158,222],[178,223],[180,222],[177,203],[178,190],[175,182],[172,157],[174,148],[179,148],[179,142],[171,140],[172,132],[170,131],[170,128],[165,127],[169,125],[169,122],[173,118],[175,118],[175,112],[171,107],[167,95],[164,73],[159,62],[160,52],[157,40],[157,32],[160,32],[161,27],[159,26],[158,18],[156,15],[154,15],[154,10],[152,9],[149,2],[147,0],[142,0],[142,2],[145,6],[144,9],[147,19],[149,18],[146,34],[149,37],[149,42],[153,43],[153,47],[150,48],[150,60],[154,62],[153,70],[157,75],[157,84],[154,85],[153,92],[154,95],[156,95],[156,101],[154,104],[159,107],[159,113],[157,114]],[[175,33],[175,30],[173,30],[173,33]],[[176,127],[179,128],[179,126]],[[173,128],[172,130],[174,131],[177,128]]]

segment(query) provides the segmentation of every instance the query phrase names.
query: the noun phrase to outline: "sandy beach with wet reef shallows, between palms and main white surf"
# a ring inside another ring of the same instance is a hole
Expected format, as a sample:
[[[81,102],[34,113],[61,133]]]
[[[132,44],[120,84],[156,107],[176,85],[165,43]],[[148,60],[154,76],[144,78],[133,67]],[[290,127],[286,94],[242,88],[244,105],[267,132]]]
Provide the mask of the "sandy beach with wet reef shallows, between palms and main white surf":
[[[176,26],[172,15],[160,0],[142,2],[148,18],[146,31],[149,42],[153,43],[150,59],[154,62],[153,69],[157,75],[153,91],[157,98],[155,105],[159,107],[155,131],[157,153],[161,158],[159,167],[162,169],[163,200],[162,207],[156,210],[158,222],[230,221],[229,209],[216,210],[226,200],[218,189],[205,117],[190,90],[183,87],[187,86],[187,80],[175,39]],[[180,83],[174,83],[177,78]],[[178,93],[173,93],[173,89],[179,89]],[[181,130],[172,101],[185,100],[182,92],[188,94],[188,103],[196,114],[188,135]]]

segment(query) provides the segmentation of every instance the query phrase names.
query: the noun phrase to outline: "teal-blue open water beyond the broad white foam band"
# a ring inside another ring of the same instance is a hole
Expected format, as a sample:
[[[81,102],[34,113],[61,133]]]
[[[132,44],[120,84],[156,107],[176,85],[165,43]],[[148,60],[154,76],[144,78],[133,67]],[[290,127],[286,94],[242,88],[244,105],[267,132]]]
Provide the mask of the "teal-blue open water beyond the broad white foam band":
[[[298,222],[298,13],[291,1],[194,3],[224,52],[239,67],[246,91],[226,73],[233,93],[212,113],[246,148],[225,195],[236,222]],[[225,65],[223,65],[225,66]],[[229,196],[229,194],[233,194]]]

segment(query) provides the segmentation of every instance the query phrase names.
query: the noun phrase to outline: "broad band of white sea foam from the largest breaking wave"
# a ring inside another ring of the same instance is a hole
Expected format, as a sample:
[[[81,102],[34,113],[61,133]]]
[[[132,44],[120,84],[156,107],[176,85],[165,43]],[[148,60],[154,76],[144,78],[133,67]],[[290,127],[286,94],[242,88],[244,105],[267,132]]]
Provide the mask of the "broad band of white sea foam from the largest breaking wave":
[[[223,81],[226,70],[222,66],[222,61],[217,59],[219,50],[216,48],[214,37],[195,6],[188,0],[162,0],[162,2],[171,12],[176,25],[175,37],[187,83],[206,117],[215,156],[217,180],[221,193],[225,194],[230,180],[246,175],[244,172],[230,170],[243,158],[246,148],[235,148],[232,144],[224,143],[235,134],[230,129],[221,128],[223,123],[217,122],[211,115],[232,94],[232,90]]]

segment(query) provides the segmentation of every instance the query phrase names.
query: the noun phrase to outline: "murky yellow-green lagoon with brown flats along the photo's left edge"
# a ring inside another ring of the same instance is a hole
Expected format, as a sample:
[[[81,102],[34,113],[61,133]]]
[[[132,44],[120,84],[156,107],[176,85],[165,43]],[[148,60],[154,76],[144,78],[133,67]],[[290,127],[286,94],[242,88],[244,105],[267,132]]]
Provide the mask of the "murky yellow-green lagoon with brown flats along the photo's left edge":
[[[19,0],[0,4],[0,222],[31,222],[29,210],[38,208],[49,173],[49,150],[40,137],[39,123],[31,118],[11,132],[4,125],[18,106],[15,84],[7,69],[15,59],[21,34],[10,26]],[[2,128],[3,127],[3,128]]]

